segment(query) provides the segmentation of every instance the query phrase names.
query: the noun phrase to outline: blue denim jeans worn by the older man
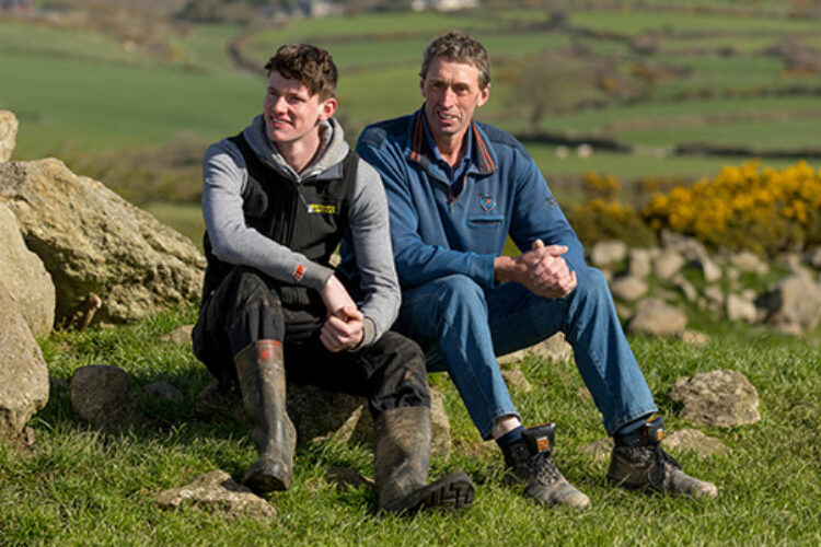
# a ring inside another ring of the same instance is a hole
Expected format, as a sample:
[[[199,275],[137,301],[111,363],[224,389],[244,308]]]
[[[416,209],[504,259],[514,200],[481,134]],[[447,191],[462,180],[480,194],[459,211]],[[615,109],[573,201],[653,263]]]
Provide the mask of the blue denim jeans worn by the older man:
[[[560,330],[612,435],[658,408],[604,276],[589,267],[576,274],[577,288],[560,300],[537,296],[519,283],[483,289],[466,276],[440,278],[403,292],[393,329],[419,342],[429,372],[448,371],[483,439],[490,439],[496,419],[519,416],[496,356]]]

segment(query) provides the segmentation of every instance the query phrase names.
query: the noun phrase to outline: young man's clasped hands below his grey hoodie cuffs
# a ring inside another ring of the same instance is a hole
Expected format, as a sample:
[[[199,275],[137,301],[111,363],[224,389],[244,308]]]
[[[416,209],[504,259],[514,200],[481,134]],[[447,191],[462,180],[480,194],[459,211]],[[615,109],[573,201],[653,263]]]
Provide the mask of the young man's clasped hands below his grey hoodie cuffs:
[[[321,295],[328,315],[320,333],[322,345],[328,351],[356,348],[365,336],[365,316],[345,286],[336,276],[331,276]]]

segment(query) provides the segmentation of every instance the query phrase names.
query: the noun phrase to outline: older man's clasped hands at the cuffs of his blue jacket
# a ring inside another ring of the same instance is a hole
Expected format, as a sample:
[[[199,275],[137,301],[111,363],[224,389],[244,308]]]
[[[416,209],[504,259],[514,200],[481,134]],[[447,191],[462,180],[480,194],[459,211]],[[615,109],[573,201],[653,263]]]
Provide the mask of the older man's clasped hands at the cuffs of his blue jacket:
[[[494,264],[498,281],[516,281],[534,294],[560,299],[576,288],[576,272],[570,271],[562,255],[564,245],[545,246],[542,240],[533,242],[527,253],[517,257],[496,258]]]

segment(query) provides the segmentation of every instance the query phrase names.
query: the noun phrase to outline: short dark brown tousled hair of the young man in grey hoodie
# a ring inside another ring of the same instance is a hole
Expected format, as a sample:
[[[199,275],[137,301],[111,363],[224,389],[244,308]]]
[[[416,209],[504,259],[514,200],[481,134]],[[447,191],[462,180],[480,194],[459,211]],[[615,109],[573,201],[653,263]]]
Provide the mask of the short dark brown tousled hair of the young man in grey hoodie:
[[[276,71],[285,78],[299,80],[312,95],[320,95],[321,101],[336,94],[336,65],[331,54],[321,47],[310,44],[280,46],[265,63],[265,70],[268,75]]]

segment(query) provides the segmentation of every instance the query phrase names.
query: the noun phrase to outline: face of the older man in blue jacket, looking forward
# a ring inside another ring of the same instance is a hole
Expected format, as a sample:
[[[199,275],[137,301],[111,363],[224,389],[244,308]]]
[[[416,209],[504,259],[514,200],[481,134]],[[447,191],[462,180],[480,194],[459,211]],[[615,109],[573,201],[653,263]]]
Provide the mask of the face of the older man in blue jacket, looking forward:
[[[473,65],[437,57],[419,84],[425,97],[428,128],[436,139],[464,135],[477,106],[487,102],[490,86],[479,90],[479,71]]]

